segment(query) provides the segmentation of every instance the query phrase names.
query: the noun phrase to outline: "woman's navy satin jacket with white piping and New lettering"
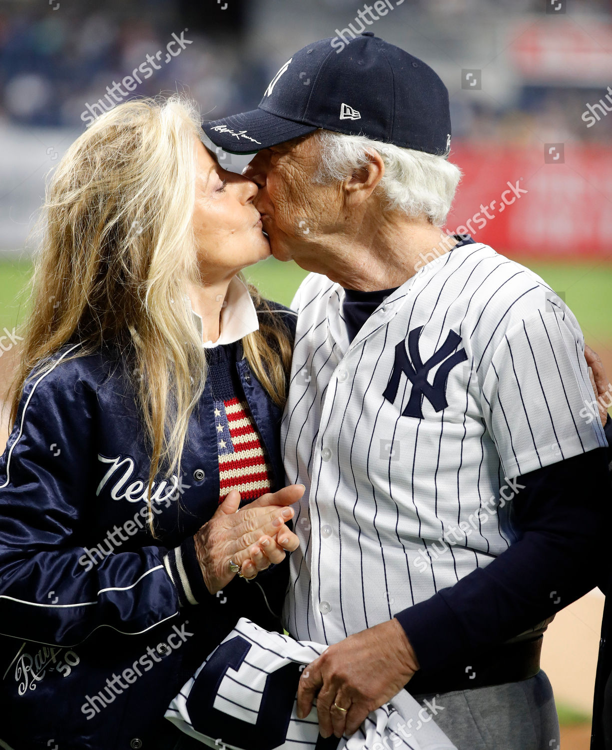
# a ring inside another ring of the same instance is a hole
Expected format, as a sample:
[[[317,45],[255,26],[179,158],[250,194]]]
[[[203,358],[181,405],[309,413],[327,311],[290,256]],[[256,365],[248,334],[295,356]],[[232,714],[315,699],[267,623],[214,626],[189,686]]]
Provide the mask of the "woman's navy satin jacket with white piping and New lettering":
[[[270,305],[294,332],[294,317]],[[208,384],[190,419],[182,476],[156,479],[153,538],[142,497],[150,460],[127,365],[110,350],[64,362],[78,347],[28,378],[0,458],[0,747],[166,748],[166,707],[238,617],[279,629],[273,612],[287,566],[254,582],[236,576],[216,595],[204,586],[198,604],[181,598],[164,558],[219,502]],[[282,410],[240,343],[223,350],[279,489]]]

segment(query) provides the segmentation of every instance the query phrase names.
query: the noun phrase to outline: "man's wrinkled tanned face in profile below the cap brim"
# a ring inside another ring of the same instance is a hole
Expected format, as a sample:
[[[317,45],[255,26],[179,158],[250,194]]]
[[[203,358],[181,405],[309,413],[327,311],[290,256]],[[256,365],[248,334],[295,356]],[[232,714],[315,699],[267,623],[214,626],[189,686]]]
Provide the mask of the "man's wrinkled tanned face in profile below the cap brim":
[[[313,181],[320,148],[311,133],[264,148],[243,170],[259,186],[254,203],[273,255],[279,260],[293,258],[305,268],[309,254],[315,253],[315,237],[333,232],[342,212],[340,185]]]

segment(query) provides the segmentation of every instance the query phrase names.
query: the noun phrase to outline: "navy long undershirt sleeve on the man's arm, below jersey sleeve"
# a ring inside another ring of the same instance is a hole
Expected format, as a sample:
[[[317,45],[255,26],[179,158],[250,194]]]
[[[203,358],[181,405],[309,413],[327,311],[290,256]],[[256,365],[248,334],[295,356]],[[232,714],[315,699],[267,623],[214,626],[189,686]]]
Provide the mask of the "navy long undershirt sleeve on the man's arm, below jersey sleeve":
[[[536,469],[518,483],[525,485],[511,501],[518,541],[454,586],[396,613],[422,668],[514,637],[602,579],[608,449]]]

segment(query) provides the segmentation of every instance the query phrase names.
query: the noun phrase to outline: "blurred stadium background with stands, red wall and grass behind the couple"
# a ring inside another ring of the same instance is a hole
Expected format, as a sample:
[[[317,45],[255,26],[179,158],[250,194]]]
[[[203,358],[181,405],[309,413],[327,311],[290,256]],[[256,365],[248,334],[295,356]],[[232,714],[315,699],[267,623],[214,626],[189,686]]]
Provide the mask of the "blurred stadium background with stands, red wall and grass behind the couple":
[[[612,375],[611,1],[369,6],[378,20],[367,28],[423,58],[449,89],[451,160],[464,178],[448,228],[467,227],[541,275]],[[358,0],[2,0],[0,333],[18,335],[28,310],[28,233],[45,176],[88,113],[110,106],[107,87],[144,66],[146,80],[114,89],[115,99],[187,92],[210,119],[252,109],[296,49],[362,31],[365,7]],[[167,54],[181,32],[189,42]],[[223,152],[219,160],[237,171],[246,163]],[[304,274],[267,260],[248,275],[288,304]],[[0,350],[2,392],[15,356],[14,348]],[[0,450],[6,437],[5,416]],[[545,637],[563,748],[588,747],[602,606],[599,593],[587,595]]]

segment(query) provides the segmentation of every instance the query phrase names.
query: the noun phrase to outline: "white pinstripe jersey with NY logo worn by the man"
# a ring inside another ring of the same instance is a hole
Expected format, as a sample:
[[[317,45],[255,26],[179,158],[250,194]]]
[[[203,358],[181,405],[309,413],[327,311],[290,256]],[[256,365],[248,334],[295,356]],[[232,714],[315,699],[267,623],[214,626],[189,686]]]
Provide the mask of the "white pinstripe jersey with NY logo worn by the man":
[[[488,245],[422,266],[351,344],[343,299],[316,274],[297,292],[282,422],[287,480],[306,485],[285,627],[323,643],[488,565],[516,538],[500,490],[607,445],[580,415],[593,389],[578,321]]]

